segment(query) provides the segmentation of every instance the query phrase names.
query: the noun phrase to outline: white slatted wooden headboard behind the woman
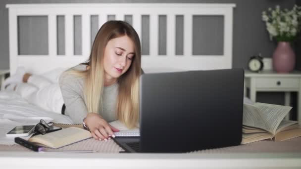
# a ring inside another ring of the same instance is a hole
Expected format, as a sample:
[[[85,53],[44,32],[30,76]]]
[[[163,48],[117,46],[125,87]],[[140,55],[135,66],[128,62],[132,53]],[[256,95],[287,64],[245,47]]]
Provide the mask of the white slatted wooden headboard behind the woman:
[[[219,3],[58,3],[58,4],[7,4],[9,9],[10,73],[24,66],[31,73],[43,73],[57,67],[72,67],[87,60],[91,49],[91,16],[98,15],[98,25],[107,21],[132,16],[132,25],[142,37],[142,16],[149,16],[149,54],[143,55],[142,67],[184,70],[232,68],[233,8],[235,4]],[[57,16],[64,16],[65,52],[57,52]],[[82,54],[74,54],[73,16],[80,15],[82,22]],[[166,54],[158,54],[159,16],[166,16]],[[193,55],[193,16],[222,16],[222,53],[219,55]],[[48,54],[18,54],[18,17],[47,16]],[[176,55],[176,17],[183,16],[183,53]]]

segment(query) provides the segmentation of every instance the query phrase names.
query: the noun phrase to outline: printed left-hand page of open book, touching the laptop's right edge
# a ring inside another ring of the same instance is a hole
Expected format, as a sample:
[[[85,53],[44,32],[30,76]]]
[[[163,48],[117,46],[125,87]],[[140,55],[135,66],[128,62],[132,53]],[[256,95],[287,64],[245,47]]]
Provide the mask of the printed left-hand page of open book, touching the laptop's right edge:
[[[249,104],[244,104],[243,125],[270,130],[266,121],[261,118],[257,107]]]

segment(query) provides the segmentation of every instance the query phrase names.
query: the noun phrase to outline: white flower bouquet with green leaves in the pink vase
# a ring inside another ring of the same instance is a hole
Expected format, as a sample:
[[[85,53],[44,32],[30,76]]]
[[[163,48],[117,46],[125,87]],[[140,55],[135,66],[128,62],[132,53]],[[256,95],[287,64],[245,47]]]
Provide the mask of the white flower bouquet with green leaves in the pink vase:
[[[275,38],[278,42],[292,42],[301,29],[301,6],[295,5],[292,10],[281,10],[279,5],[275,9],[268,8],[268,12],[262,12],[262,20],[270,40]]]

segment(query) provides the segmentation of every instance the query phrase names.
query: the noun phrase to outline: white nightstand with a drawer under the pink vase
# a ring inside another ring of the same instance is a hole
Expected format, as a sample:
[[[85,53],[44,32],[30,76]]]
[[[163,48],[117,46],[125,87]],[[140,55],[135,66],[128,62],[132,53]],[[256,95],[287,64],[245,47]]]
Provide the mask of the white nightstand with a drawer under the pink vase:
[[[291,104],[291,92],[298,92],[297,120],[301,124],[301,71],[289,74],[279,74],[274,71],[253,73],[245,70],[245,95],[246,88],[250,88],[250,99],[256,101],[257,91],[282,91],[285,92],[285,105]],[[286,117],[288,119],[289,116]]]

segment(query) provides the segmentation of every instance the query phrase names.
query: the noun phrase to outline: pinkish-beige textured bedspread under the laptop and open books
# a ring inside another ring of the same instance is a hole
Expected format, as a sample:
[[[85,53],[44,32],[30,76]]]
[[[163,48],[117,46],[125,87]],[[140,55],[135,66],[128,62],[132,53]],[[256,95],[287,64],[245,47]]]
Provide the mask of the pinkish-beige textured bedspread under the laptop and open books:
[[[94,150],[100,153],[118,153],[123,151],[113,140],[99,141],[90,138],[59,149],[47,148],[46,151]],[[0,145],[0,151],[31,151],[20,145]],[[239,146],[207,149],[190,153],[301,153],[301,137],[291,140],[273,142],[258,141]]]

